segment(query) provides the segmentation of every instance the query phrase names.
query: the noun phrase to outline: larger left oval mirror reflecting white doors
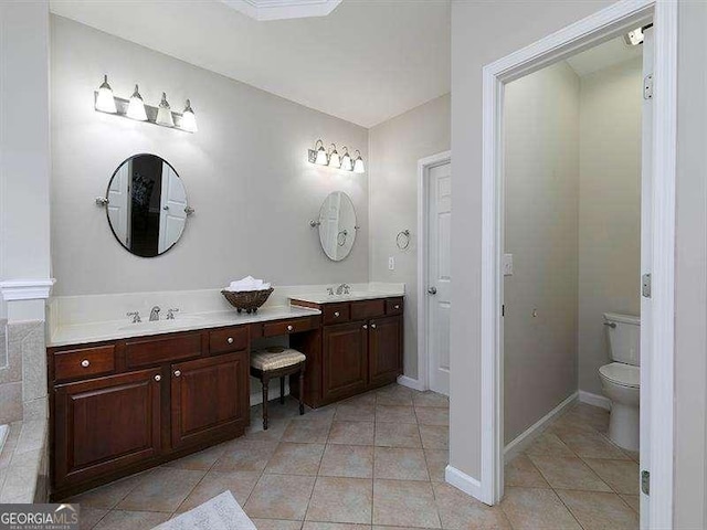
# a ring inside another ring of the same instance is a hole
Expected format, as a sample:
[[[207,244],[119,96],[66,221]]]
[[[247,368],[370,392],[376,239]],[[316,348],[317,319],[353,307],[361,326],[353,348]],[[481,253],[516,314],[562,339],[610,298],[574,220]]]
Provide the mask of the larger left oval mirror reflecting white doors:
[[[155,257],[179,241],[189,205],[179,174],[157,155],[136,155],[115,170],[107,191],[108,224],[131,254]]]

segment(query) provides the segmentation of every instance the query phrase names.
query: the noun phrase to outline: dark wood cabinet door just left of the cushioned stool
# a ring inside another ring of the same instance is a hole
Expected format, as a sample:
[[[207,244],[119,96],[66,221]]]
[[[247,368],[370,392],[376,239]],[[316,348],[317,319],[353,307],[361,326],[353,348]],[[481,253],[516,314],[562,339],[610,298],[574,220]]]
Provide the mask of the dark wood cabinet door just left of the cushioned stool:
[[[247,352],[171,367],[172,448],[242,434],[249,421]]]

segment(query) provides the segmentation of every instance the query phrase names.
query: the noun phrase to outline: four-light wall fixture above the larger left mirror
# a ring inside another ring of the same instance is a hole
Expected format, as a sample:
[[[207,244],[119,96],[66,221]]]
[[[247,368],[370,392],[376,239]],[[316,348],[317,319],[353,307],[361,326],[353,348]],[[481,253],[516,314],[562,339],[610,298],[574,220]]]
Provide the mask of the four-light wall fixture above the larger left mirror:
[[[94,108],[99,113],[115,114],[124,118],[146,121],[148,124],[184,130],[187,132],[196,132],[198,130],[197,117],[194,116],[189,99],[187,99],[183,114],[171,110],[169,103],[167,103],[167,94],[165,93],[162,93],[162,100],[159,107],[145,105],[137,85],[135,85],[135,92],[133,96],[130,96],[130,99],[124,99],[113,94],[107,75],[104,75],[102,85],[98,87],[98,91],[94,93]]]

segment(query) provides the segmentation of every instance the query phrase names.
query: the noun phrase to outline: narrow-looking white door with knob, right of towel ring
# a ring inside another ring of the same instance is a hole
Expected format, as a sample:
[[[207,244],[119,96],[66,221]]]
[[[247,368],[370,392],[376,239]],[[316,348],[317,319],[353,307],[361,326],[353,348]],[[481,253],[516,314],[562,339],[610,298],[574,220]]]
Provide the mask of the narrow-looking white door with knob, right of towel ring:
[[[445,395],[450,395],[451,227],[452,165],[446,162],[429,170],[426,264],[430,390]]]

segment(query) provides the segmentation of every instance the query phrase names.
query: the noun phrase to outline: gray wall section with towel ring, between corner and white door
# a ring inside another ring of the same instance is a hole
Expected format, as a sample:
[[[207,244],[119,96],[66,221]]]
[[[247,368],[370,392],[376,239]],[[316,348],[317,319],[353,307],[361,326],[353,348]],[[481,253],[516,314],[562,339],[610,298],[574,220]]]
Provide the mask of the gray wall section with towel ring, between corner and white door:
[[[405,375],[418,378],[418,160],[450,149],[450,96],[442,96],[370,129],[371,282],[405,284]],[[407,251],[395,246],[410,230]],[[388,257],[395,269],[388,269]]]

